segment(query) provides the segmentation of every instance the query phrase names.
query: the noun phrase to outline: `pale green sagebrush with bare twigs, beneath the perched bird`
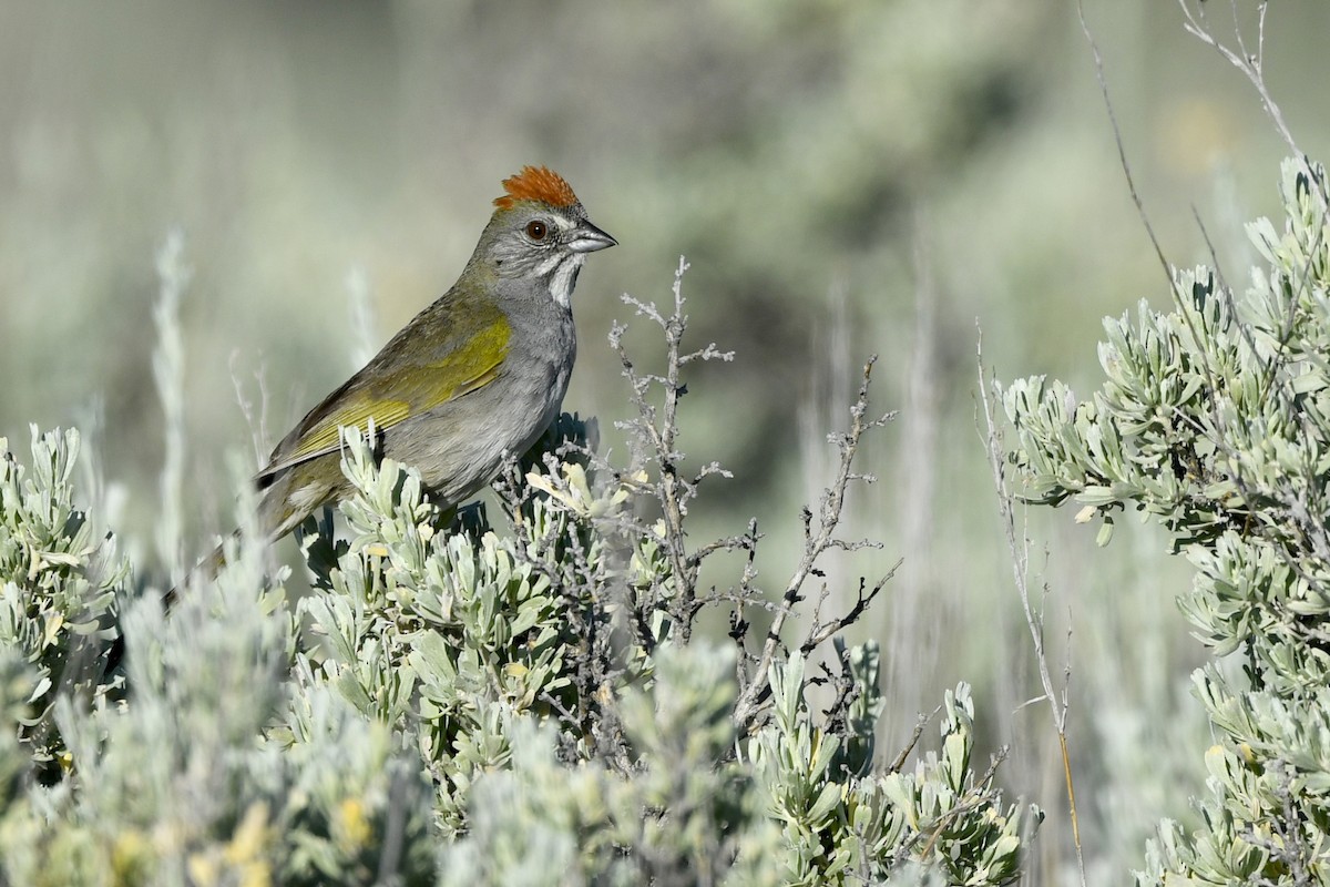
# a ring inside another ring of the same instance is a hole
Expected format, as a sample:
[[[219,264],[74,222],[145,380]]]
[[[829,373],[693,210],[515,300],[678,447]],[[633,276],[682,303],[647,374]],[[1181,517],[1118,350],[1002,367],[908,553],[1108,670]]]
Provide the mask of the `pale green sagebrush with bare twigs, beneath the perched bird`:
[[[640,416],[630,467],[565,415],[499,481],[501,519],[454,519],[344,430],[355,493],[343,533],[302,528],[299,597],[254,541],[245,491],[225,568],[165,613],[73,505],[77,436],[35,432],[31,469],[4,445],[0,882],[1013,880],[1039,813],[1001,801],[996,762],[975,767],[964,685],[936,750],[912,767],[918,735],[882,753],[876,646],[841,632],[886,578],[843,614],[823,592],[797,625],[819,559],[866,544],[841,512],[870,480],[851,469],[859,439],[886,420],[867,412],[867,370],[803,559],[769,592],[754,525],[686,533],[698,485],[725,472],[685,472],[682,375],[725,355],[681,348],[680,286],[672,314],[633,303],[665,332],[660,375],[612,336]],[[721,551],[747,567],[700,586]],[[697,628],[716,608],[725,644]]]

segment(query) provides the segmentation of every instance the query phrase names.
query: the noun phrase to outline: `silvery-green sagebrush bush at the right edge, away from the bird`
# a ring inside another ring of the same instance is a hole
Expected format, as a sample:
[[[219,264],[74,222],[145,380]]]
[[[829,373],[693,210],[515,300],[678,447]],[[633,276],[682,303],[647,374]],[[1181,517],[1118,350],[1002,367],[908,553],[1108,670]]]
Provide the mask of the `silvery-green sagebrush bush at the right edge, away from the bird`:
[[[1322,166],[1286,161],[1249,283],[1180,271],[1172,310],[1107,320],[1089,399],[1041,376],[1003,392],[1025,496],[1081,504],[1103,544],[1128,507],[1162,524],[1196,565],[1182,612],[1236,658],[1193,676],[1205,824],[1162,823],[1140,884],[1330,883],[1327,194]]]

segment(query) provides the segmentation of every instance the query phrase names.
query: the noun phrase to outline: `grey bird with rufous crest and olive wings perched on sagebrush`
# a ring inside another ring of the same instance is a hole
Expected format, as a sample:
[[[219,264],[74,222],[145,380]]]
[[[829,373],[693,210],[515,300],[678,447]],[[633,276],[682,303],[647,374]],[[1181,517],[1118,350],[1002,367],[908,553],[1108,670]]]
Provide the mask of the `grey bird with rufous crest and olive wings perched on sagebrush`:
[[[577,354],[571,297],[588,253],[616,241],[544,166],[504,195],[462,277],[314,407],[258,473],[269,540],[342,499],[338,427],[372,419],[379,452],[414,465],[444,508],[495,479],[559,415]]]

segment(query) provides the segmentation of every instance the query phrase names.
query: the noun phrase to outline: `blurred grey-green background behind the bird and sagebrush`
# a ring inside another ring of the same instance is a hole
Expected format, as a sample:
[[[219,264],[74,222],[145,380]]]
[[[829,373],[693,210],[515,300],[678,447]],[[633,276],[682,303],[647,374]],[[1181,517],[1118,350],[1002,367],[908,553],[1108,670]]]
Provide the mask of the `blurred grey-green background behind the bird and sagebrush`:
[[[1277,210],[1285,153],[1256,93],[1176,4],[1087,5],[1169,261],[1208,261],[1194,213],[1245,279],[1241,223]],[[1230,33],[1230,7],[1206,8]],[[1319,158],[1327,33],[1330,7],[1306,0],[1278,4],[1266,35],[1271,90]],[[771,588],[831,469],[823,435],[880,355],[875,404],[900,416],[862,453],[879,483],[854,496],[849,532],[884,548],[829,581],[847,594],[906,559],[859,630],[884,649],[882,753],[971,681],[990,746],[1012,746],[1004,783],[1049,811],[1031,883],[1065,883],[1061,762],[1047,706],[1023,706],[1039,685],[976,430],[976,322],[1000,378],[1088,392],[1100,318],[1168,301],[1072,3],[7,3],[0,435],[98,430],[109,517],[152,565],[154,254],[180,229],[202,549],[230,523],[225,453],[257,464],[447,289],[524,164],[561,172],[621,242],[581,277],[565,400],[618,453],[610,322],[632,322],[641,366],[662,350],[618,297],[668,301],[678,257],[692,263],[693,340],[735,352],[688,379],[682,447],[735,475],[694,508],[694,533],[758,516]],[[1209,739],[1186,676],[1205,652],[1173,606],[1188,570],[1162,535],[1124,520],[1101,551],[1071,517],[1027,529],[1052,665],[1071,672],[1087,866],[1111,884],[1160,817],[1192,815]]]

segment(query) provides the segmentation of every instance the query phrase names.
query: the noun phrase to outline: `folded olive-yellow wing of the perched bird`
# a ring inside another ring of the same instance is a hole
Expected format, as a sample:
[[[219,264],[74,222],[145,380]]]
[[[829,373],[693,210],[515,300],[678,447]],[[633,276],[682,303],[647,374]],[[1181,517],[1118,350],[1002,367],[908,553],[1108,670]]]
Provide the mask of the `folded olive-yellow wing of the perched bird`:
[[[277,445],[255,481],[261,488],[267,487],[283,471],[336,452],[342,426],[366,431],[372,419],[374,427],[382,431],[485,387],[503,368],[509,334],[507,318],[495,310],[485,313],[469,340],[432,355],[428,362],[400,347],[404,340],[390,342],[305,416]],[[399,347],[394,348],[395,344]]]

